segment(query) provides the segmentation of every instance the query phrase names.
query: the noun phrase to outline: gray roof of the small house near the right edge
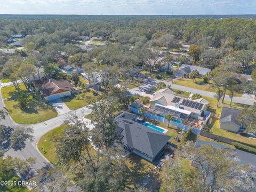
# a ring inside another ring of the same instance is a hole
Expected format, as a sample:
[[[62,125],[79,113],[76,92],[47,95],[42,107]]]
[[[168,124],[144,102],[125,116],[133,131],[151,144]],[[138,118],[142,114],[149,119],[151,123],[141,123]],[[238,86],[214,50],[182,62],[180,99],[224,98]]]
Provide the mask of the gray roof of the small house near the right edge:
[[[241,126],[241,123],[239,123],[236,119],[241,112],[242,112],[241,109],[234,109],[231,107],[222,107],[220,123],[233,122],[236,125]]]

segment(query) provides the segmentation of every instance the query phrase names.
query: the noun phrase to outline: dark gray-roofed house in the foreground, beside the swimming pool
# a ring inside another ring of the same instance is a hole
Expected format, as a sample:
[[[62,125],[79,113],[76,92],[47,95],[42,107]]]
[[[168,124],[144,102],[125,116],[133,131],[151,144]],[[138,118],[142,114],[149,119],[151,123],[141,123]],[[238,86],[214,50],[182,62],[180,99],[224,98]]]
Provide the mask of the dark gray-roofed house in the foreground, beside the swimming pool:
[[[119,135],[119,142],[124,145],[124,149],[149,162],[156,159],[171,138],[165,133],[152,129],[147,124],[137,122],[137,115],[127,111],[122,111],[115,118],[118,123],[116,133]]]

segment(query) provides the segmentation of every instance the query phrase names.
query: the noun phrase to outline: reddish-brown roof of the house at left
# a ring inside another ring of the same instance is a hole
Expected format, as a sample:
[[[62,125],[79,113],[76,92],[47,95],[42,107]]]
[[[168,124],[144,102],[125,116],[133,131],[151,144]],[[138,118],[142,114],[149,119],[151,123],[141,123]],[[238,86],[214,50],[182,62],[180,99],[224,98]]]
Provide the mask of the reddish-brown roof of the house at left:
[[[50,77],[42,77],[41,80],[36,81],[36,84],[41,84],[42,94],[47,97],[52,94],[71,91],[74,89],[74,85],[67,80],[56,80]]]

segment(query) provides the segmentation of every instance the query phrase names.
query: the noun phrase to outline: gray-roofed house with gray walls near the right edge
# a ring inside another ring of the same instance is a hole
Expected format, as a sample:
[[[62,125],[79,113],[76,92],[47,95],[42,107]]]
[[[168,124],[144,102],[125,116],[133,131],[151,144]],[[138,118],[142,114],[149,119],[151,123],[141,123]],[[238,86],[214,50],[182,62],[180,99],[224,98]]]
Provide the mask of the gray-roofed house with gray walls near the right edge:
[[[236,118],[241,112],[241,109],[222,107],[220,115],[220,129],[237,133],[242,125],[237,121]]]

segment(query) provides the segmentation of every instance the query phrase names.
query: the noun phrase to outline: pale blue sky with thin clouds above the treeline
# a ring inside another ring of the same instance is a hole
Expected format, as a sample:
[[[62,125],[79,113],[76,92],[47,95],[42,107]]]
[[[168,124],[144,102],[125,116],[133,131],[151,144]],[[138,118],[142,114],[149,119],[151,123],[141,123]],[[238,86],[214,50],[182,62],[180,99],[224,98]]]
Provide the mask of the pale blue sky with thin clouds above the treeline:
[[[256,0],[0,0],[0,14],[256,14]]]

